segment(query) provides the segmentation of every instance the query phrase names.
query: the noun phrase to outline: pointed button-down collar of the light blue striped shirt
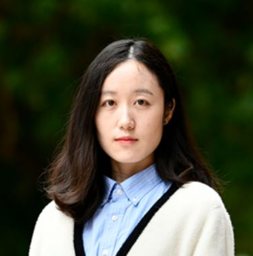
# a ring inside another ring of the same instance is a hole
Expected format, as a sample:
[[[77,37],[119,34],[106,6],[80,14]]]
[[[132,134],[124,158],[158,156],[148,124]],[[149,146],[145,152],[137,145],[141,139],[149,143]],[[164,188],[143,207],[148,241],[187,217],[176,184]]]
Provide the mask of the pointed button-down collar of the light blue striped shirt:
[[[158,176],[155,164],[150,165],[139,173],[134,174],[130,178],[120,183],[123,192],[126,197],[134,204],[137,205],[140,200],[145,196],[152,188],[161,182],[160,176]],[[102,202],[104,205],[109,199],[112,191],[117,186],[117,182],[113,179],[105,176],[105,196]]]

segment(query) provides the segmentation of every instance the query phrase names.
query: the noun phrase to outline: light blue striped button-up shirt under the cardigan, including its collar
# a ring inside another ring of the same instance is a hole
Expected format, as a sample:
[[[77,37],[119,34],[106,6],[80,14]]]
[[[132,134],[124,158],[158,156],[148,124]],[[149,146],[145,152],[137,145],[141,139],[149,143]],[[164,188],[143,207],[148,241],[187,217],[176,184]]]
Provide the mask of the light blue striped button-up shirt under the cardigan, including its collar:
[[[170,188],[157,174],[155,165],[118,184],[105,176],[105,197],[92,219],[84,225],[86,256],[114,256],[133,229]]]

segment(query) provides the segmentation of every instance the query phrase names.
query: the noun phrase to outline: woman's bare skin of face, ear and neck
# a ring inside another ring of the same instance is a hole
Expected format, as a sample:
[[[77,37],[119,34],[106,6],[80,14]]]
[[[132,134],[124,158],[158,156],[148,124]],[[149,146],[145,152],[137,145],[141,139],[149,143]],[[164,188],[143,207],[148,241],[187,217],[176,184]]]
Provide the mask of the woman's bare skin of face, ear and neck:
[[[164,111],[157,77],[136,60],[120,63],[105,78],[95,123],[99,143],[111,158],[113,179],[122,182],[154,163],[174,106]]]

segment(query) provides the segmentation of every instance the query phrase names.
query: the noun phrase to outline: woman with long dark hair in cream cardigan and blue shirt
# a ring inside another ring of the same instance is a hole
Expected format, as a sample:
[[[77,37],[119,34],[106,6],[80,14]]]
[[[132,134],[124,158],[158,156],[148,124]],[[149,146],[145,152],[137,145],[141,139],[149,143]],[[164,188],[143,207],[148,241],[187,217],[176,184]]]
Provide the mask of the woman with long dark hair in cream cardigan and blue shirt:
[[[175,76],[149,42],[116,41],[90,64],[48,180],[30,256],[234,255]]]

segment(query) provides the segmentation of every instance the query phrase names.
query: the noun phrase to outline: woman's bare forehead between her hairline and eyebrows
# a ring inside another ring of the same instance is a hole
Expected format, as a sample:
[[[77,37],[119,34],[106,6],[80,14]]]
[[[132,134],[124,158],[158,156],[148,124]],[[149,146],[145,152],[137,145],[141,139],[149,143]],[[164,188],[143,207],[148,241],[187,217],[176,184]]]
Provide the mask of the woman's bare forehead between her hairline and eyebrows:
[[[161,89],[157,77],[146,66],[136,60],[126,60],[120,63],[107,75],[102,85],[102,91],[107,90],[136,90],[146,88]]]

